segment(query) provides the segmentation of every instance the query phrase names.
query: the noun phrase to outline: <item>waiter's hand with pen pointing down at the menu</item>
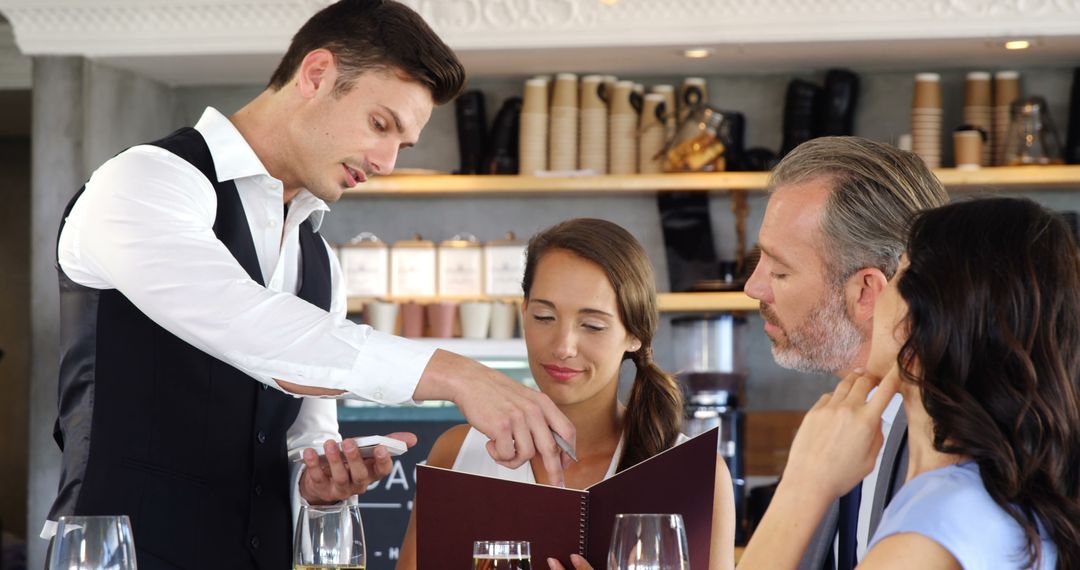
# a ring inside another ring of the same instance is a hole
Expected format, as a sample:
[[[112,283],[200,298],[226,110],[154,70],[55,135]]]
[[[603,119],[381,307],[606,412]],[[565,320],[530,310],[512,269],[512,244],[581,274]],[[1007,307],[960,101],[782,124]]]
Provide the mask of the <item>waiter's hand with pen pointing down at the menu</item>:
[[[544,394],[473,359],[438,350],[413,397],[454,402],[465,420],[490,439],[487,451],[496,462],[513,469],[539,454],[548,480],[564,485],[566,458],[551,432],[571,447],[577,432]]]

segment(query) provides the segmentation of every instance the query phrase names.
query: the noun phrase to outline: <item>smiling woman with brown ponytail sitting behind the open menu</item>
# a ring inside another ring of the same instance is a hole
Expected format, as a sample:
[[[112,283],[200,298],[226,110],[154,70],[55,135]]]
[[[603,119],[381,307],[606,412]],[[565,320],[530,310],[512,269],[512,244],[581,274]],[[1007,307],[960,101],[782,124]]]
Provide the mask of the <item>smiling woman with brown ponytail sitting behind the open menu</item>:
[[[588,218],[549,228],[529,241],[522,286],[532,377],[577,428],[579,461],[566,467],[567,487],[583,489],[686,439],[679,433],[679,386],[652,361],[659,321],[652,266],[630,232]],[[617,391],[626,359],[637,372],[623,406]],[[557,483],[548,479],[539,462],[515,470],[497,464],[487,445],[483,434],[459,425],[435,442],[428,463],[525,483]],[[710,568],[731,568],[734,498],[719,456],[715,489]],[[399,569],[416,565],[414,524]],[[580,556],[570,560],[575,568],[588,568]],[[559,568],[558,562],[552,567]]]

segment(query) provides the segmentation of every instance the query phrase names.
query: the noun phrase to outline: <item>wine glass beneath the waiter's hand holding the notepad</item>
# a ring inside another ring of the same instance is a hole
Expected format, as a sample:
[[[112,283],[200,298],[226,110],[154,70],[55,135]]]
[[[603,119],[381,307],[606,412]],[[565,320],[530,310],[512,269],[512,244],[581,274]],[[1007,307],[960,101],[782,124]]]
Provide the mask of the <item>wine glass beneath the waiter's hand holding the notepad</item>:
[[[363,570],[367,565],[360,505],[301,506],[293,541],[296,570]]]

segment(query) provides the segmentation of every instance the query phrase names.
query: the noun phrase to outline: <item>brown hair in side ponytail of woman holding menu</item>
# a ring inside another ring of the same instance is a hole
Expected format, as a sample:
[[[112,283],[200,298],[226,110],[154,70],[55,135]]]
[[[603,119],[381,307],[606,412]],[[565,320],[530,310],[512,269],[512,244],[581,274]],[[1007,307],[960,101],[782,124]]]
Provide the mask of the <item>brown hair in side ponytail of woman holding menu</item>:
[[[554,249],[570,252],[604,270],[615,289],[619,318],[642,341],[636,352],[623,354],[624,361],[634,361],[637,374],[623,416],[626,444],[618,466],[622,471],[674,446],[683,424],[683,391],[652,362],[659,321],[652,264],[642,244],[622,227],[593,218],[567,220],[529,240],[522,280],[526,300],[540,259]]]

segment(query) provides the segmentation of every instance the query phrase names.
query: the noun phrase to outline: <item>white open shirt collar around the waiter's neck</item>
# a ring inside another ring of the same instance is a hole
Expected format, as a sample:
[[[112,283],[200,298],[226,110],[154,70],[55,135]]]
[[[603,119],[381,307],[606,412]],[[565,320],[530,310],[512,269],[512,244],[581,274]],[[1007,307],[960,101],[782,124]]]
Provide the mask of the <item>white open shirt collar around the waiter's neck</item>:
[[[199,122],[195,123],[195,131],[199,131],[206,140],[210,154],[214,158],[217,181],[222,182],[249,176],[273,178],[252,146],[232,124],[232,121],[229,121],[229,118],[217,109],[206,107],[202,117],[199,118]],[[305,217],[310,217],[312,227],[318,231],[323,223],[323,216],[330,208],[311,192],[300,190],[293,199],[291,209]]]

